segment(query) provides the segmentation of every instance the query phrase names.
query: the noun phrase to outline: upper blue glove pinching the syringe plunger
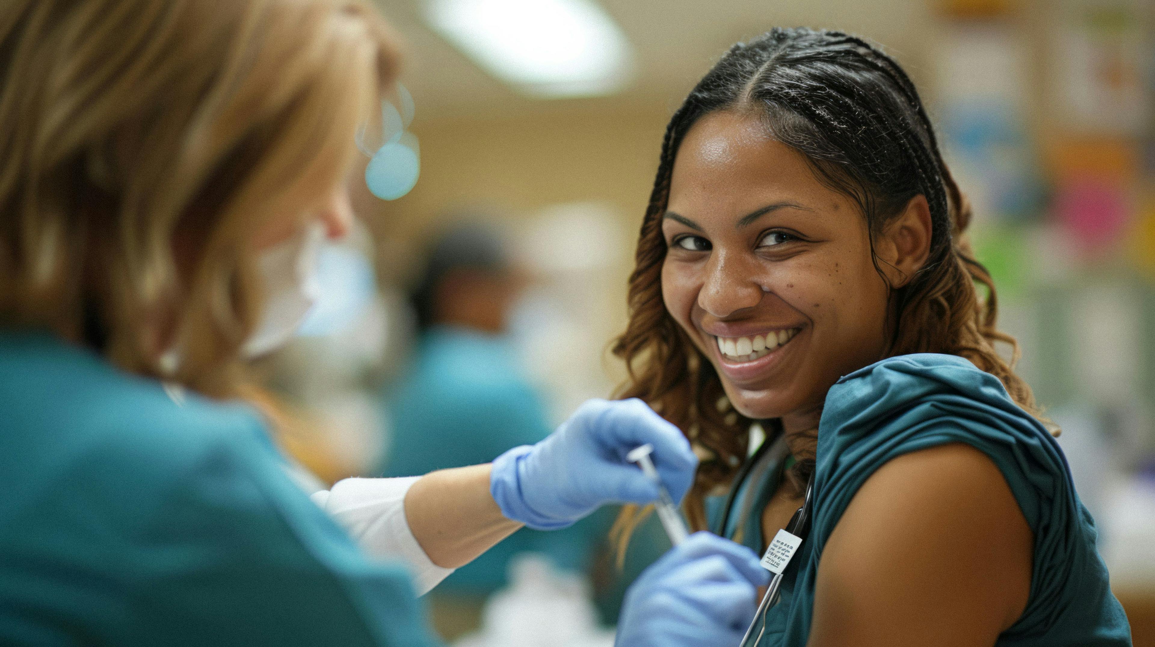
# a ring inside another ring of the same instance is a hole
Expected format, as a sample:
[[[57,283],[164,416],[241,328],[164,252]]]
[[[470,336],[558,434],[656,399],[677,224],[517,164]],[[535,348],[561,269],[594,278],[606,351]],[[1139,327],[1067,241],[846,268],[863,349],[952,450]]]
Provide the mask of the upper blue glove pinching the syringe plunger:
[[[537,530],[565,528],[609,503],[648,504],[657,486],[626,460],[647,443],[662,483],[680,501],[698,456],[678,427],[638,399],[589,400],[545,440],[501,454],[490,492],[507,519]]]

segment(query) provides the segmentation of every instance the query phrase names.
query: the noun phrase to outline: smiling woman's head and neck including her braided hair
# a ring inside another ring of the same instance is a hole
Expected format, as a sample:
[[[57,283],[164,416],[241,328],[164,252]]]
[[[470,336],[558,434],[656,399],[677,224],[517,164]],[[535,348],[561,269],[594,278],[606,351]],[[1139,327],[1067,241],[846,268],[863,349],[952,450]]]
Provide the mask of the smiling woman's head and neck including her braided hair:
[[[695,525],[754,421],[792,427],[800,488],[827,389],[884,357],[966,357],[1037,414],[996,352],[1018,347],[996,328],[970,217],[910,81],[857,38],[776,29],[699,82],[666,128],[614,345],[632,375],[624,394],[714,459],[687,506]],[[740,360],[743,337],[753,352],[780,333],[789,344]]]

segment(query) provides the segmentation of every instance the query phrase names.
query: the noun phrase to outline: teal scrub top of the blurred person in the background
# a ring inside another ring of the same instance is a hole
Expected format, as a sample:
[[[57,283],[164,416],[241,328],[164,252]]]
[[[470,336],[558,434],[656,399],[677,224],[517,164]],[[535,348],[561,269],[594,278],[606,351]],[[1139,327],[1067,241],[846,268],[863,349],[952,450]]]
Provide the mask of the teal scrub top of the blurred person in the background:
[[[385,400],[390,423],[385,476],[487,463],[551,431],[543,399],[509,340],[460,326],[425,332]],[[561,530],[522,528],[457,568],[435,593],[492,593],[506,586],[508,564],[520,552],[545,555],[561,568],[586,571],[608,527],[602,513]]]

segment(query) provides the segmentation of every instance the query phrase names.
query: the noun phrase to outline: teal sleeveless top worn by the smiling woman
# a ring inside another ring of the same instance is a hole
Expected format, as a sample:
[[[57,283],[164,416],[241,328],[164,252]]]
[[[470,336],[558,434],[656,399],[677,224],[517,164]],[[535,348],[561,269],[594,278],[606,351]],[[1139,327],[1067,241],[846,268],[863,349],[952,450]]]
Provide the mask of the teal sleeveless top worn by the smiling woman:
[[[1027,608],[996,645],[1131,645],[1127,618],[1095,550],[1095,522],[1079,501],[1058,443],[994,375],[961,357],[924,354],[855,371],[827,394],[813,526],[784,573],[781,602],[769,610],[759,646],[805,647],[822,546],[866,478],[895,456],[947,443],[966,443],[994,461],[1035,535]],[[753,497],[757,512],[731,518],[726,536],[740,529],[743,543],[761,551],[761,511],[780,479],[781,466],[770,466],[739,484],[738,498]]]

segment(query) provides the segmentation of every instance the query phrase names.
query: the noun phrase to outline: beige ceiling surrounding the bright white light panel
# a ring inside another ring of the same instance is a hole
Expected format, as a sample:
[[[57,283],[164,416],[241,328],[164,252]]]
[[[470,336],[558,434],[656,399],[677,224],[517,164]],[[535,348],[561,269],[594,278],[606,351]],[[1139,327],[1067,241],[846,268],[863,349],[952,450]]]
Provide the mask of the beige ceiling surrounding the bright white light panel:
[[[917,81],[922,51],[936,31],[930,0],[595,0],[634,46],[638,73],[633,82],[612,97],[528,99],[425,27],[420,18],[424,1],[377,0],[404,39],[403,80],[425,118],[623,104],[660,104],[672,110],[726,47],[775,25],[859,34],[886,45]]]

